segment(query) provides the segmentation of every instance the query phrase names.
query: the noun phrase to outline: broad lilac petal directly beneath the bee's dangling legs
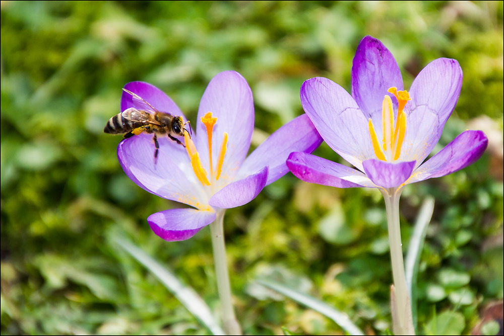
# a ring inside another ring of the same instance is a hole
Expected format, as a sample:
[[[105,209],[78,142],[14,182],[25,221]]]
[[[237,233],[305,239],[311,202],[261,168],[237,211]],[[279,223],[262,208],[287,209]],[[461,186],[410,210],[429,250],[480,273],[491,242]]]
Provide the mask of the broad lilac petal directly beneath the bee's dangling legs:
[[[185,148],[165,137],[158,138],[154,164],[152,135],[139,134],[122,140],[117,157],[124,173],[148,192],[199,209],[208,208],[208,196],[193,172]]]

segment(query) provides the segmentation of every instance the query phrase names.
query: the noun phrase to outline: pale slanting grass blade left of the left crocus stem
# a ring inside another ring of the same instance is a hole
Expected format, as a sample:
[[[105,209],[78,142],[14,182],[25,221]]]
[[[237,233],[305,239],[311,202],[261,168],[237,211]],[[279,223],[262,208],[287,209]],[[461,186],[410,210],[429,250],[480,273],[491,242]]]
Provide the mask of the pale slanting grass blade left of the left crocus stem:
[[[140,264],[151,271],[180,303],[182,303],[185,308],[199,319],[214,335],[224,334],[224,331],[213,317],[208,305],[192,288],[184,286],[170,271],[161,266],[130,241],[119,237],[115,237],[114,241]]]

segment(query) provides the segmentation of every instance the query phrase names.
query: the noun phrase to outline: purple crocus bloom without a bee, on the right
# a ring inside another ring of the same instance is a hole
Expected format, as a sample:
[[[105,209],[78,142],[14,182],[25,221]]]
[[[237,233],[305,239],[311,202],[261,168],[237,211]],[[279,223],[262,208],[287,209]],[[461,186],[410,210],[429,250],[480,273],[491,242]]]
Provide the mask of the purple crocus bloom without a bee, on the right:
[[[439,140],[462,87],[454,59],[438,58],[403,91],[394,56],[366,36],[352,66],[352,95],[316,77],[301,87],[304,111],[328,145],[357,169],[294,152],[287,166],[299,179],[338,188],[380,188],[395,193],[404,185],[442,177],[475,162],[488,140],[465,131],[422,164]],[[392,190],[391,190],[392,188]]]

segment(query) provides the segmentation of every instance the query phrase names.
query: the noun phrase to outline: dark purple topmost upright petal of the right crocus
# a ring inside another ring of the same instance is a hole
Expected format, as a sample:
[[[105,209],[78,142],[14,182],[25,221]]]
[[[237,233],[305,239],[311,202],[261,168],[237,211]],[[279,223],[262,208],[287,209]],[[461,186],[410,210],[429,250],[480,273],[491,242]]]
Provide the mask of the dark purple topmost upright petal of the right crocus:
[[[403,77],[399,65],[380,40],[366,36],[360,41],[352,64],[352,97],[367,119],[375,125],[382,124],[382,102],[385,95],[394,96],[388,90],[403,90]],[[394,111],[397,111],[397,100]],[[381,127],[376,130],[379,138]]]

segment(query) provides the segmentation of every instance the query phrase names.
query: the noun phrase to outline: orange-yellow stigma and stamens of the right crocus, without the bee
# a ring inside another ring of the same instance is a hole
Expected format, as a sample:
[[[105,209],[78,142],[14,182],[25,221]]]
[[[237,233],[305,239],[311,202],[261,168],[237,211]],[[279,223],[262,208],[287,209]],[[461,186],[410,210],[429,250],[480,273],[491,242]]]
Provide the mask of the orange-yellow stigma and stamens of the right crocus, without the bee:
[[[397,91],[397,88],[390,88],[389,92],[396,96],[399,102],[397,111],[397,121],[394,127],[394,110],[392,99],[388,95],[385,96],[382,104],[382,131],[383,140],[382,145],[376,136],[373,123],[369,118],[369,134],[373,144],[374,153],[376,157],[383,161],[395,161],[401,156],[401,147],[406,134],[406,113],[404,113],[404,106],[411,100],[406,90]]]

